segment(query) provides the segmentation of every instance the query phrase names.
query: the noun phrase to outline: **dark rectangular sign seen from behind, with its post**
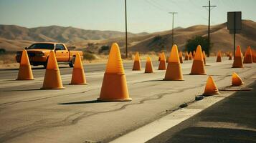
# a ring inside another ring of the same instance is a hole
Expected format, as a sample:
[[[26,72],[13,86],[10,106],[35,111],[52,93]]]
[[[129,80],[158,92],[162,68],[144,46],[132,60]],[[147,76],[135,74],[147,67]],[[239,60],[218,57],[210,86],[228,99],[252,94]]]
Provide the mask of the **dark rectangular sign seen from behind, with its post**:
[[[235,52],[235,34],[240,34],[242,29],[242,12],[227,12],[227,29],[229,34],[234,34],[234,52]]]

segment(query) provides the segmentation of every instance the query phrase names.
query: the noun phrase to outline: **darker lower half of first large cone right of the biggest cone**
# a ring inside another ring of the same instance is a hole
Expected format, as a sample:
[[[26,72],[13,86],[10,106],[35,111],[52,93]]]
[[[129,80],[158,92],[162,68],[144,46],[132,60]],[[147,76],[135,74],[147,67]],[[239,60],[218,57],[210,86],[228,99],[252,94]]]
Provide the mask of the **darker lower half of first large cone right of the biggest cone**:
[[[181,71],[181,64],[178,63],[168,63],[166,69],[166,75],[163,79],[164,81],[183,81],[183,75]]]

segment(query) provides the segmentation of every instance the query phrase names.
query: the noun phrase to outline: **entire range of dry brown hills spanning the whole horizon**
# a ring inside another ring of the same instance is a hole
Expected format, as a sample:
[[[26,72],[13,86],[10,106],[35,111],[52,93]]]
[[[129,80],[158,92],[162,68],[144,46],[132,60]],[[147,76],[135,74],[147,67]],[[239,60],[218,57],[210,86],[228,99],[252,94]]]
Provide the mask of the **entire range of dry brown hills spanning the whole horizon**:
[[[194,36],[207,36],[207,25],[195,25],[174,29],[174,41],[179,50],[185,49],[186,41]],[[96,52],[100,46],[118,42],[121,50],[125,47],[125,33],[120,31],[84,30],[73,27],[45,26],[27,29],[22,26],[0,25],[0,48],[15,51],[29,46],[34,41],[60,41],[77,49]],[[229,34],[226,23],[211,26],[212,51],[232,51],[233,35]],[[247,46],[256,48],[256,22],[242,21],[242,32],[236,36],[236,44],[244,51]],[[93,45],[93,46],[88,46]],[[128,33],[128,51],[170,51],[171,30],[148,34]]]

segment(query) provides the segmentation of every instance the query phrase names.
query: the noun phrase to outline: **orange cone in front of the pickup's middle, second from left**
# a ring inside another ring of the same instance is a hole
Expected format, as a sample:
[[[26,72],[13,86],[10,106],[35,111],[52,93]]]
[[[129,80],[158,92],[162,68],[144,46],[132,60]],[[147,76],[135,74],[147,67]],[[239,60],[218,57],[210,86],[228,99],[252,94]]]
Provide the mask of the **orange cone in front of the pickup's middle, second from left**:
[[[62,85],[60,70],[54,51],[49,52],[47,69],[44,75],[44,84],[41,89],[65,89]]]

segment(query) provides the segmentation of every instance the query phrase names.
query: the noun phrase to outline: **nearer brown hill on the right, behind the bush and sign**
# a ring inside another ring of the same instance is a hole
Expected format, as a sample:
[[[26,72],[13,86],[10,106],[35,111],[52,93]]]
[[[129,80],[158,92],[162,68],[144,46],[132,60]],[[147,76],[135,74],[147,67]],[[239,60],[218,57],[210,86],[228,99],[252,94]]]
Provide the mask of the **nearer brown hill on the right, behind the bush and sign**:
[[[207,36],[208,26],[196,25],[186,29],[176,29],[174,31],[174,41],[180,50],[185,49],[186,41],[196,35]],[[214,43],[212,51],[232,51],[233,34],[229,34],[227,24],[211,26],[211,42]],[[245,50],[247,46],[256,49],[256,22],[250,20],[242,21],[241,34],[236,34],[236,44]],[[138,42],[130,47],[132,51],[161,51],[171,49],[171,31],[158,32],[153,37]]]

